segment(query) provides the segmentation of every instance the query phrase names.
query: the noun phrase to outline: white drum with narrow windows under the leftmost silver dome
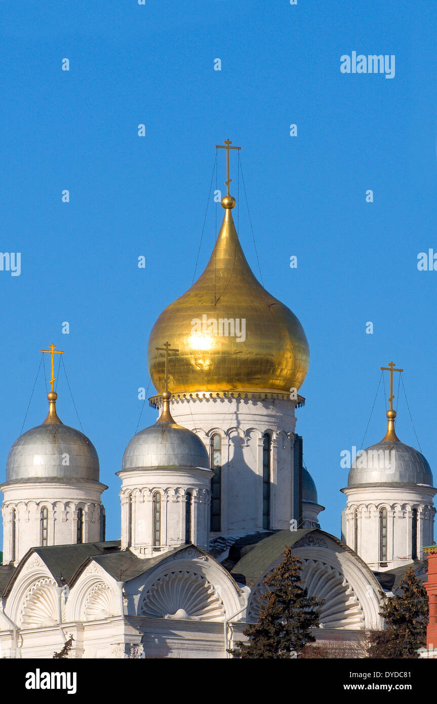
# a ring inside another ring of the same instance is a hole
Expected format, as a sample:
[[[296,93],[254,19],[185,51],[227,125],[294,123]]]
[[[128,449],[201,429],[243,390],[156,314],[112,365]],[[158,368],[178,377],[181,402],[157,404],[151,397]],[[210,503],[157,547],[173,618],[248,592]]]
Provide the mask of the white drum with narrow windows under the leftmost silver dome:
[[[83,542],[101,539],[101,494],[104,484],[80,482],[58,484],[56,482],[17,482],[4,484],[3,514],[3,564],[12,558],[12,517],[15,522],[15,561],[30,548],[41,545],[41,510],[49,512],[48,545],[66,545],[77,541],[77,510],[84,512]]]

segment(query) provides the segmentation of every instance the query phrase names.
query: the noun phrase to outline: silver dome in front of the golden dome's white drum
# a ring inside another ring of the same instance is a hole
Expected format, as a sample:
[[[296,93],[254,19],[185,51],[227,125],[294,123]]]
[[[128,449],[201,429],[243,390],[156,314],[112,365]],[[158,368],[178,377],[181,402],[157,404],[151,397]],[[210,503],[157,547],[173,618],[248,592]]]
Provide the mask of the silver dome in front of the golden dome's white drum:
[[[208,469],[208,453],[191,430],[175,422],[157,422],[134,435],[123,455],[123,470],[143,467]]]

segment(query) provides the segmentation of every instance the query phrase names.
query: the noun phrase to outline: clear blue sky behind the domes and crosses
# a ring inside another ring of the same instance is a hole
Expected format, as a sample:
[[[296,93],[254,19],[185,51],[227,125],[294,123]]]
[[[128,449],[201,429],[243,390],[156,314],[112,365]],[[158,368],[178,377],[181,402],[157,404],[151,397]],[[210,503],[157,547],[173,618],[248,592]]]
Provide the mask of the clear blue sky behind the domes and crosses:
[[[4,0],[0,13],[0,250],[21,253],[20,276],[0,271],[1,466],[53,342],[110,486],[107,537],[119,536],[115,472],[149,380],[148,335],[191,285],[214,145],[229,137],[265,287],[310,344],[297,431],[322,528],[340,532],[340,453],[360,448],[390,360],[437,473],[437,271],[417,270],[419,252],[437,252],[435,0]],[[395,77],[341,73],[352,51],[394,54]],[[256,273],[242,199],[239,224]],[[198,272],[214,239],[211,207]],[[78,427],[63,375],[58,393]],[[417,446],[403,398],[398,411],[398,436]],[[45,416],[40,377],[25,429]],[[146,406],[142,427],[155,417]],[[385,427],[380,395],[365,445]]]

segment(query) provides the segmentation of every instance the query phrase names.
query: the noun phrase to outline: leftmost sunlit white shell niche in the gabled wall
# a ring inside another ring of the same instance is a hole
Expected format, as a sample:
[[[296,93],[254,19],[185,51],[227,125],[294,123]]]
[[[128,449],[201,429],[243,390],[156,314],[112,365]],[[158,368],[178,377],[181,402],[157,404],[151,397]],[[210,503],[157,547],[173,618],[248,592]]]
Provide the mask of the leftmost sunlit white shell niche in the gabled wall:
[[[62,604],[62,609],[63,604]],[[25,596],[20,614],[20,628],[44,628],[58,623],[56,582],[50,577],[38,579]]]

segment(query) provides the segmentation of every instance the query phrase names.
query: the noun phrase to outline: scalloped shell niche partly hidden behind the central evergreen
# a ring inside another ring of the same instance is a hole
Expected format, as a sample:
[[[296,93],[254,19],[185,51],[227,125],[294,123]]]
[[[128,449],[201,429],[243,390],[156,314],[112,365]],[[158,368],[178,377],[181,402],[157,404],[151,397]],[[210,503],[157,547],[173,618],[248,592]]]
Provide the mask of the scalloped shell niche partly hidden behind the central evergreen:
[[[308,589],[308,596],[325,600],[319,620],[322,627],[360,629],[365,623],[364,613],[344,575],[319,560],[300,560],[303,563],[302,580]],[[258,619],[260,597],[264,592],[265,586],[260,583],[253,593],[249,607],[249,617],[252,621]]]

